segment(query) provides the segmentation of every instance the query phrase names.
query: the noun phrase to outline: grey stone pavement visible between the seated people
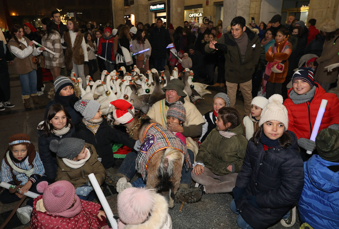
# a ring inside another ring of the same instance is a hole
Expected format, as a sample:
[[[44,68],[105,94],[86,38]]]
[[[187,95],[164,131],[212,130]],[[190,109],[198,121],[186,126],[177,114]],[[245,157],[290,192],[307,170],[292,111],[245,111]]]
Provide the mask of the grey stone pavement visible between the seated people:
[[[31,136],[33,144],[38,150],[38,135],[37,125],[43,120],[45,105],[50,100],[47,98],[49,88],[53,87],[52,82],[44,82],[46,84],[45,93],[39,98],[44,102],[44,105],[34,107],[25,110],[21,100],[21,87],[19,76],[13,74],[14,67],[9,66],[9,73],[11,78],[11,99],[10,102],[15,104],[14,108],[6,108],[5,111],[0,111],[0,158],[3,158],[5,149],[8,144],[8,138],[15,133],[27,133]],[[85,65],[85,74],[88,73],[88,68]],[[95,79],[99,79],[99,73],[97,72],[94,76]],[[205,100],[200,100],[196,103],[199,111],[204,114],[208,110],[212,109],[213,96],[218,92],[224,92],[224,88],[208,87],[212,94],[206,94]],[[31,101],[31,105],[32,101]],[[241,96],[238,96],[236,109],[240,113],[240,117],[243,117],[243,100]],[[135,179],[135,178],[134,178]],[[112,195],[113,192],[104,188],[105,196],[107,197],[108,203],[111,205],[114,214],[117,213],[117,194]],[[166,195],[168,198],[168,194]],[[230,194],[207,194],[204,195],[198,203],[185,204],[183,211],[179,212],[180,204],[175,204],[173,209],[169,209],[169,214],[172,217],[173,229],[183,228],[223,228],[223,229],[234,229],[239,228],[236,223],[237,215],[230,209],[230,203],[233,197]],[[0,225],[5,221],[16,203],[12,204],[1,204],[0,203]],[[22,205],[24,206],[24,204]],[[297,220],[298,221],[298,220]],[[16,217],[16,214],[12,220],[7,224],[5,228],[25,228],[29,226],[21,225],[20,221]],[[277,223],[270,228],[284,228]],[[299,228],[298,222],[291,228]]]

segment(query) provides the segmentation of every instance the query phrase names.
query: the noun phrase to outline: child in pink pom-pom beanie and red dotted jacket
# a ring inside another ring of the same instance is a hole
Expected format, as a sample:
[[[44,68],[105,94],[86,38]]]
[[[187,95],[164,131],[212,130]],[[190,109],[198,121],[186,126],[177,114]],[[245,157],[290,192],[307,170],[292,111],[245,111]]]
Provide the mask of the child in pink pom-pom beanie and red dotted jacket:
[[[34,199],[32,229],[109,228],[100,204],[79,199],[68,181],[40,182],[37,190],[43,194]]]

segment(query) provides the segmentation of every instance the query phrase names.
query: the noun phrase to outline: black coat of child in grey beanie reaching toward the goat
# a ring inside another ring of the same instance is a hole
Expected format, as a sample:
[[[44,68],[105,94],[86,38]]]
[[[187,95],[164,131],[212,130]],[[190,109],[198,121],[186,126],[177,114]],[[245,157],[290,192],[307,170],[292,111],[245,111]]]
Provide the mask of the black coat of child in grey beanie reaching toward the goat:
[[[105,169],[114,165],[114,157],[111,143],[121,143],[129,148],[134,147],[135,140],[126,133],[108,126],[106,119],[102,116],[103,122],[100,124],[96,134],[89,130],[82,121],[75,126],[74,137],[83,139],[86,143],[92,144],[97,150],[98,156],[102,158],[101,163]]]

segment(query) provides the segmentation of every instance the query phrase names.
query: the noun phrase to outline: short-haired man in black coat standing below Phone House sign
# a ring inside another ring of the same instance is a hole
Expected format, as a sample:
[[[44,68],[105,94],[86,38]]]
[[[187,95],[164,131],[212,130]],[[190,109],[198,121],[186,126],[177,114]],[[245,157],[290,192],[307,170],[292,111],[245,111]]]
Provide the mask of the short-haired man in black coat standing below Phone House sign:
[[[149,43],[152,46],[151,56],[154,58],[154,68],[164,70],[166,59],[166,47],[171,43],[168,30],[162,26],[161,18],[157,19],[156,26],[149,33]]]

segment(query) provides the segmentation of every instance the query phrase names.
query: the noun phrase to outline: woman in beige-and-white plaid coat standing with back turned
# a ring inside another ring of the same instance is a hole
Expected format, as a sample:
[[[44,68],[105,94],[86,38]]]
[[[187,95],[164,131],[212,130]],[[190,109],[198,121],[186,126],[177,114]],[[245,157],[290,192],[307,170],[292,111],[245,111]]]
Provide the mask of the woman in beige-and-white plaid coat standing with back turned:
[[[46,31],[42,37],[41,43],[49,50],[55,52],[53,55],[49,52],[44,52],[45,68],[51,71],[53,81],[60,76],[61,68],[65,67],[65,59],[61,46],[61,36],[59,32],[53,29],[53,21],[49,18],[41,19],[42,28]]]

